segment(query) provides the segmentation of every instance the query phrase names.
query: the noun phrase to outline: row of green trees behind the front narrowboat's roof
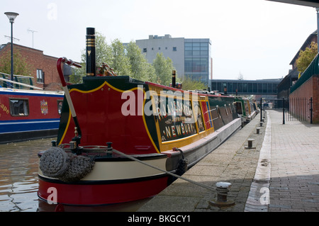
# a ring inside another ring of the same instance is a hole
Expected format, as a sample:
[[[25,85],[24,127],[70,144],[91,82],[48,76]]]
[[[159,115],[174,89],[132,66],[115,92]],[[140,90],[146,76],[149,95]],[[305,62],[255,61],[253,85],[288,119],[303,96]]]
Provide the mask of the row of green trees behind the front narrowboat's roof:
[[[86,54],[82,50],[82,68],[76,74],[85,76]],[[96,33],[96,65],[108,64],[118,75],[129,75],[140,81],[151,81],[169,86],[172,82],[173,62],[169,57],[157,54],[153,64],[147,62],[140,47],[131,41],[126,48],[120,40],[113,40],[111,45],[106,43],[106,37]],[[80,81],[76,77],[70,77],[73,81]],[[177,82],[179,79],[177,79]]]

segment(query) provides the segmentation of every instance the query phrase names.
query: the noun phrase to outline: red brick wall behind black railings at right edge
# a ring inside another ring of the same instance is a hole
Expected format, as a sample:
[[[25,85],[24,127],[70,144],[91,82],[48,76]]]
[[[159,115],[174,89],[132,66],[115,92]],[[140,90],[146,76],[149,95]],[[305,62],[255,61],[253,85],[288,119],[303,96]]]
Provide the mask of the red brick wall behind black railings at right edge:
[[[290,110],[296,108],[298,102],[293,101],[296,98],[305,98],[309,100],[310,97],[313,98],[313,123],[319,123],[319,77],[318,74],[310,77],[304,84],[302,84],[298,89],[293,91],[289,95],[289,108]],[[303,111],[301,111],[303,112]],[[310,121],[310,118],[307,119]]]

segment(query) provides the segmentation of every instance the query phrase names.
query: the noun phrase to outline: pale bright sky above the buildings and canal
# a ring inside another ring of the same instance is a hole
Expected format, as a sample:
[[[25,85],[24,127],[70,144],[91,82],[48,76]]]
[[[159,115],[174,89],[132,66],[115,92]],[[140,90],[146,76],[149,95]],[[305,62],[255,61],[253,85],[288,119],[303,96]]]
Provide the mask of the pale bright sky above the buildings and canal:
[[[12,11],[19,13],[13,43],[77,62],[87,27],[105,35],[108,44],[148,35],[209,38],[213,79],[285,77],[317,29],[315,8],[266,0],[1,0],[0,9],[0,44],[10,42],[4,13]]]

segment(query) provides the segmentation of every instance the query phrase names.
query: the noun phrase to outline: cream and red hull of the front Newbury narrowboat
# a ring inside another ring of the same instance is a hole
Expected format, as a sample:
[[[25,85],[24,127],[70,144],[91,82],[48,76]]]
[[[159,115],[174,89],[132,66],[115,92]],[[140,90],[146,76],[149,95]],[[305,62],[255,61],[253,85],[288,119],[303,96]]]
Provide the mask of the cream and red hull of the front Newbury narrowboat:
[[[93,171],[75,183],[48,178],[39,170],[38,196],[48,203],[67,205],[104,205],[155,196],[176,179],[163,171],[176,174],[181,159],[187,159],[190,168],[240,128],[241,120],[237,118],[180,151],[135,156],[157,169],[125,158],[96,159]]]

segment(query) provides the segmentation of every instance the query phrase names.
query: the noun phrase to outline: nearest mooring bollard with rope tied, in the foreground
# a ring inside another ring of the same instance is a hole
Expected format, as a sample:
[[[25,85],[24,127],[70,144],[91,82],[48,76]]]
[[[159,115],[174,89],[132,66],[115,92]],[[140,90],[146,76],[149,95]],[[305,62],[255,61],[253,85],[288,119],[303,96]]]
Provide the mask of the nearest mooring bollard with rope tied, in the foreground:
[[[209,204],[218,206],[218,207],[227,207],[230,205],[234,205],[235,201],[227,200],[229,188],[231,186],[232,184],[229,182],[217,182],[216,183],[217,198],[216,200],[209,201]]]

